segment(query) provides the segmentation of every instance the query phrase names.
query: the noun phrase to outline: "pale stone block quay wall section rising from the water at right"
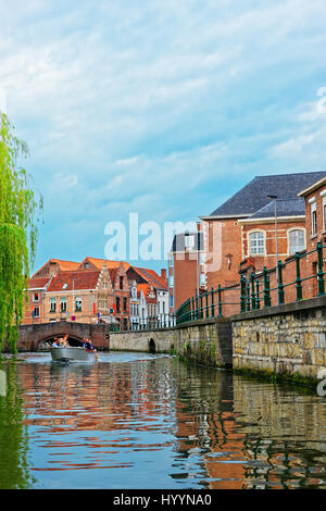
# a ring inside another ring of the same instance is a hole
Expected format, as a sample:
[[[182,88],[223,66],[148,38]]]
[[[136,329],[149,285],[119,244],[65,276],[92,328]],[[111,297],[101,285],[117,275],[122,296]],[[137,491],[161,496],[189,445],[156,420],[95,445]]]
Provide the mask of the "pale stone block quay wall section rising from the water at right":
[[[317,377],[326,370],[326,296],[237,314],[235,369]]]

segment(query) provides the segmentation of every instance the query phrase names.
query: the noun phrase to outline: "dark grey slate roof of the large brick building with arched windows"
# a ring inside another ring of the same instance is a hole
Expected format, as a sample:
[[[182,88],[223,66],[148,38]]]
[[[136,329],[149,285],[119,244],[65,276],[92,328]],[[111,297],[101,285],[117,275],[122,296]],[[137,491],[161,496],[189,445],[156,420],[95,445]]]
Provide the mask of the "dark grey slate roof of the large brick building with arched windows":
[[[276,195],[279,199],[297,199],[299,191],[309,188],[325,176],[326,171],[256,176],[213,211],[210,216],[251,216],[268,205],[271,199],[267,198],[267,195]],[[299,202],[294,211],[297,211],[297,207],[300,208]],[[288,208],[289,204],[285,205],[286,210]]]

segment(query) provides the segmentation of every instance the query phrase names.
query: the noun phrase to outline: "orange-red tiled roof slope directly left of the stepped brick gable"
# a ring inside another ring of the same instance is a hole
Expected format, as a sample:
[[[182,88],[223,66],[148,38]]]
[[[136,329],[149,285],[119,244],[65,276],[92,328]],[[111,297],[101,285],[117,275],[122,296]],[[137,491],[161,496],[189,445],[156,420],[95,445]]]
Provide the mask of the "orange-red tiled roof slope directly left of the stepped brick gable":
[[[100,272],[61,272],[53,277],[48,291],[76,291],[80,289],[96,289]]]

